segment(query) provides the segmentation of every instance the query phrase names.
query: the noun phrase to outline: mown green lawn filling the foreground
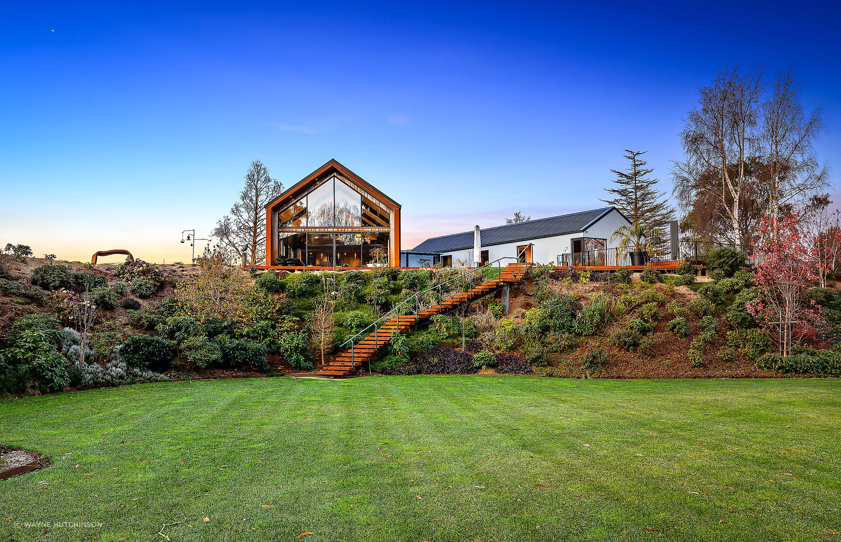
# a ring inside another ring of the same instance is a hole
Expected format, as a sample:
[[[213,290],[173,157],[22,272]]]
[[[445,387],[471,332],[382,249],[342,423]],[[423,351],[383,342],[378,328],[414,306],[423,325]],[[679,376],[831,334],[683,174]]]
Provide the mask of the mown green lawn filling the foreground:
[[[793,379],[271,378],[6,400],[0,442],[54,466],[0,481],[0,539],[165,540],[182,518],[173,541],[832,539],[839,415],[841,380]]]

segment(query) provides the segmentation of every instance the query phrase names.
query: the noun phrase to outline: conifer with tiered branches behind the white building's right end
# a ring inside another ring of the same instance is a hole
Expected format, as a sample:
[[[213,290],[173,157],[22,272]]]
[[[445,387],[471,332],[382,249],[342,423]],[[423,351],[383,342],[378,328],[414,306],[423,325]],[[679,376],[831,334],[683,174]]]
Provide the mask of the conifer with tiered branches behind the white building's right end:
[[[627,172],[611,169],[616,175],[614,183],[619,187],[606,189],[611,194],[616,194],[614,199],[602,199],[606,204],[613,205],[620,210],[632,223],[636,222],[648,228],[663,229],[669,225],[674,215],[674,207],[669,206],[668,201],[660,201],[666,194],[658,192],[655,188],[660,182],[658,178],[647,178],[654,170],[652,167],[645,167],[646,161],[640,158],[648,151],[628,151],[625,157],[631,161],[631,167]]]

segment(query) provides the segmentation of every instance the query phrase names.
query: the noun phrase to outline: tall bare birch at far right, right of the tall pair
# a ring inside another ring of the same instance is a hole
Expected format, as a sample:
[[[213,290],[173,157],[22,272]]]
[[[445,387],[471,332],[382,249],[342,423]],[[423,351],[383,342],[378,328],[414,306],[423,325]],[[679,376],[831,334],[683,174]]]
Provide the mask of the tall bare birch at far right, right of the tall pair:
[[[805,201],[828,186],[814,141],[823,130],[821,109],[807,118],[800,103],[800,83],[791,70],[780,72],[762,106],[759,143],[768,171],[768,213],[775,220],[786,204]]]

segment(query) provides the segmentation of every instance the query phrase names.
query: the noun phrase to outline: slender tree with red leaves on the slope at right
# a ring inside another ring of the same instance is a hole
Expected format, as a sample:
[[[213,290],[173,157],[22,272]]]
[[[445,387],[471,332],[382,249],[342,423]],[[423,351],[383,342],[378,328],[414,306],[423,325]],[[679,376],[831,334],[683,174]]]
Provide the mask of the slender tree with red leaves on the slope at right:
[[[754,243],[754,256],[761,265],[754,267],[759,299],[748,304],[748,311],[759,321],[780,354],[787,356],[791,348],[812,334],[813,324],[820,317],[820,307],[803,306],[804,290],[817,280],[814,254],[803,242],[800,224],[786,216],[778,221],[764,218],[759,226],[759,242]]]

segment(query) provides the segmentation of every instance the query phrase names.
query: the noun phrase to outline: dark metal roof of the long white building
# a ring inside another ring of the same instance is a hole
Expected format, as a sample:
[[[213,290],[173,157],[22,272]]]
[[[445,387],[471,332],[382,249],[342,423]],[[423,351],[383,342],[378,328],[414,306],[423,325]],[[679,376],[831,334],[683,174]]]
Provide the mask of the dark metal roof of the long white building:
[[[482,246],[501,245],[506,242],[530,241],[542,237],[553,237],[585,231],[615,207],[584,210],[570,215],[550,216],[537,221],[506,224],[482,230]],[[473,248],[473,231],[454,233],[448,236],[431,237],[412,249],[412,252],[452,252]]]

